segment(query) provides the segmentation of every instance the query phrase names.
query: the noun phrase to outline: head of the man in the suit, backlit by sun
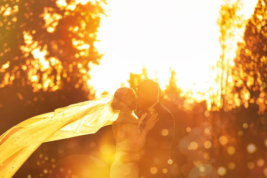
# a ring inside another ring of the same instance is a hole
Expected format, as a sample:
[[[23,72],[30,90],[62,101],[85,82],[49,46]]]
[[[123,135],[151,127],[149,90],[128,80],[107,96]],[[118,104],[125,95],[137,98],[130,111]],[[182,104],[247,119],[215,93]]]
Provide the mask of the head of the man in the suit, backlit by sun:
[[[159,86],[153,80],[143,80],[137,85],[137,98],[141,109],[147,109],[158,100]]]

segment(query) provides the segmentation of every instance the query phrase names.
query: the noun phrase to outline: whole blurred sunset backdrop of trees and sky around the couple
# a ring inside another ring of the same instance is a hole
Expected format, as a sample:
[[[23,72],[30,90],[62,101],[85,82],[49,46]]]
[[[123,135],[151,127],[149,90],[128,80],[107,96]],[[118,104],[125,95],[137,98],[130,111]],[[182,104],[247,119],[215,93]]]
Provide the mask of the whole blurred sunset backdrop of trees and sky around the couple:
[[[266,3],[1,0],[0,134],[153,79],[176,177],[267,177]],[[42,144],[14,177],[109,177],[114,153],[109,125]]]

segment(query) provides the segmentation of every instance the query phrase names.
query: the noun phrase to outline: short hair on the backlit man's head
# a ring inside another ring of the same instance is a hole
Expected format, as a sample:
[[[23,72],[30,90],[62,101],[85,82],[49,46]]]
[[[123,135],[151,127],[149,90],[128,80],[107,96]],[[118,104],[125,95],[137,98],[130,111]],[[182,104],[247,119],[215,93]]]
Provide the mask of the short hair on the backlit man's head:
[[[153,80],[143,80],[139,85],[136,86],[136,88],[138,89],[138,93],[144,93],[151,100],[156,100],[158,98],[159,86],[158,83]]]

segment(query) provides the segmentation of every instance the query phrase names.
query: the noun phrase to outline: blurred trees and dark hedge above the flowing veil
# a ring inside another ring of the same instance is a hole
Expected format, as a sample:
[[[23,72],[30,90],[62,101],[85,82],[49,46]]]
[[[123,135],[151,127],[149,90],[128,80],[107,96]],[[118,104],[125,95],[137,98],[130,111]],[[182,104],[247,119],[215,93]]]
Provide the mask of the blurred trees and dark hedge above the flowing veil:
[[[1,131],[91,95],[87,71],[102,57],[94,47],[101,3],[0,1]]]

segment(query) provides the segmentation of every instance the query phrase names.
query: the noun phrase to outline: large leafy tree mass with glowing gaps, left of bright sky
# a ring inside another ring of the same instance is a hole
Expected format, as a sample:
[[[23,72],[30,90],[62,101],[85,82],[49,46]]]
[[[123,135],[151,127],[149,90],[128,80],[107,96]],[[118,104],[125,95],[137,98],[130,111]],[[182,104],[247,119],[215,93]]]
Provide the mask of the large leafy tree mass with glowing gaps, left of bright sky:
[[[86,91],[88,70],[102,57],[94,42],[103,2],[1,1],[1,90],[13,85],[17,91],[56,91],[63,86]]]

